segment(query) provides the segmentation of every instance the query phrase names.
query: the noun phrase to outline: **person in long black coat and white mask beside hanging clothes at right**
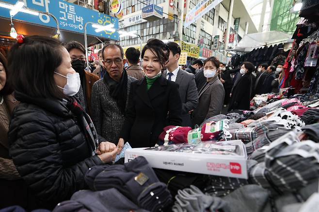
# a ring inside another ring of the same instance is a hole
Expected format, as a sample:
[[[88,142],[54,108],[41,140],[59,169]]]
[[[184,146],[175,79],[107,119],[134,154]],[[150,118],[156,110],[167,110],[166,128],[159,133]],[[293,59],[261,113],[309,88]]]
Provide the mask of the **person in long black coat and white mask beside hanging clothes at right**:
[[[253,84],[252,72],[254,71],[254,68],[253,63],[251,62],[244,62],[242,64],[240,69],[240,74],[242,76],[233,88],[228,111],[235,109],[249,110]]]

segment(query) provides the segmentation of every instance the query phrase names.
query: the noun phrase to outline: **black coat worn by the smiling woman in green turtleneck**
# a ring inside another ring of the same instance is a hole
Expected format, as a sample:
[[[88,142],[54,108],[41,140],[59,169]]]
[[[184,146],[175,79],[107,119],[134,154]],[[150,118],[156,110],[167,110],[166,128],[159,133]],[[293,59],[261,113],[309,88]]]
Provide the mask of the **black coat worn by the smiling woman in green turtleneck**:
[[[160,76],[147,91],[144,77],[131,84],[120,137],[133,148],[154,146],[165,126],[181,125],[181,115],[178,84]]]

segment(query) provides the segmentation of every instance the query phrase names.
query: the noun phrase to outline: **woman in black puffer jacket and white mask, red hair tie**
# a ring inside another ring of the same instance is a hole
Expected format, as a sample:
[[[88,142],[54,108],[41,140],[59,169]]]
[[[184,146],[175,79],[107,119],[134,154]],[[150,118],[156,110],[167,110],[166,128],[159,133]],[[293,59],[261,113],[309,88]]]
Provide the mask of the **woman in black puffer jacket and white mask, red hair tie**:
[[[117,148],[100,142],[104,139],[73,97],[80,76],[60,41],[24,38],[12,46],[8,67],[20,101],[10,122],[10,155],[37,207],[52,209],[85,189],[85,172],[114,160]]]

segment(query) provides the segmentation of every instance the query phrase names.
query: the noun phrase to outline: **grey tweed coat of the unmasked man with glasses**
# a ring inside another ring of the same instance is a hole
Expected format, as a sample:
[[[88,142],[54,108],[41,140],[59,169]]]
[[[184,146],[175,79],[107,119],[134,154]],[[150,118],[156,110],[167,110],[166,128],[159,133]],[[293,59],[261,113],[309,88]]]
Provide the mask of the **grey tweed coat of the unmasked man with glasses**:
[[[136,79],[128,76],[127,103],[131,83]],[[96,81],[92,88],[92,121],[96,127],[97,134],[103,136],[107,141],[118,143],[119,134],[125,120],[116,100],[110,94],[110,90],[103,78]]]

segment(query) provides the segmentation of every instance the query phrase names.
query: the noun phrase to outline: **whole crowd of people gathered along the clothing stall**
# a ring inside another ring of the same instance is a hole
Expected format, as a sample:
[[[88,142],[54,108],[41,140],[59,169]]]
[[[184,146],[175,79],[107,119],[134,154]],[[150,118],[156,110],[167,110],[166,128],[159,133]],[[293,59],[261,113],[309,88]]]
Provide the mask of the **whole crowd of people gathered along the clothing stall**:
[[[239,70],[210,57],[186,68],[180,55],[178,44],[158,39],[125,54],[107,44],[90,73],[82,44],[44,36],[13,45],[8,62],[0,55],[0,188],[10,190],[0,207],[52,209],[126,142],[152,147],[168,125],[195,127],[227,105],[249,110],[253,94],[281,81],[282,65]]]

